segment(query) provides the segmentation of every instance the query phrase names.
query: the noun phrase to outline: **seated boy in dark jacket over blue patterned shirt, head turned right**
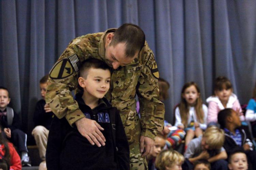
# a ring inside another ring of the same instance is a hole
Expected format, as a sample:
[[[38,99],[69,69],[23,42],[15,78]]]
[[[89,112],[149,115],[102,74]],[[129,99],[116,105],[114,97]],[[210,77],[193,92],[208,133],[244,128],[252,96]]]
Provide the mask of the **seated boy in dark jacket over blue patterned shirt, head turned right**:
[[[231,108],[226,108],[218,113],[218,122],[225,131],[224,148],[228,155],[236,149],[243,150],[248,158],[249,164],[256,169],[256,151],[253,151],[251,136],[248,126],[241,125],[239,113]]]

